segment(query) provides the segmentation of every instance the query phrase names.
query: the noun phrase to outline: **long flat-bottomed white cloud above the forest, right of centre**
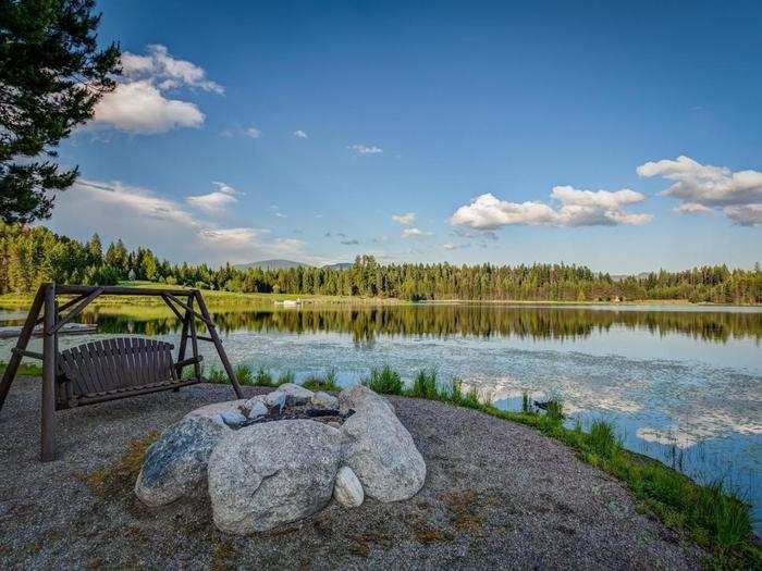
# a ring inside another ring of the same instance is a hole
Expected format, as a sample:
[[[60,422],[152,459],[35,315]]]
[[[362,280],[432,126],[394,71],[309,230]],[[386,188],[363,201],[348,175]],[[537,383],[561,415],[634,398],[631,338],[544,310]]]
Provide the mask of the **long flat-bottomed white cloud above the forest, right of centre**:
[[[458,208],[450,223],[480,231],[495,229],[513,224],[531,226],[615,226],[641,225],[653,220],[650,214],[626,212],[625,207],[642,202],[646,196],[629,189],[578,190],[572,186],[556,186],[551,198],[560,208],[539,201],[508,202],[492,194],[475,198],[470,204]]]

